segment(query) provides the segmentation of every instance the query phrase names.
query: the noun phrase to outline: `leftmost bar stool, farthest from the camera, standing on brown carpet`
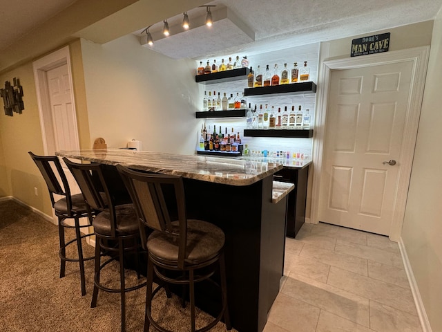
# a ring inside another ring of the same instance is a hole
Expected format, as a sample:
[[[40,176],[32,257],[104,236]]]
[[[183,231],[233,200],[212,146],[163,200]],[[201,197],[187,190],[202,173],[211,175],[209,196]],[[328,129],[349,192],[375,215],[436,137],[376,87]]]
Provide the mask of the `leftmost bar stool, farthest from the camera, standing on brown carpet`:
[[[83,257],[83,248],[81,245],[81,239],[93,235],[93,233],[81,235],[81,228],[86,228],[91,225],[92,217],[95,215],[95,211],[90,210],[86,205],[82,194],[70,194],[68,180],[61,167],[60,160],[57,156],[37,156],[31,151],[28,152],[32,160],[39,168],[41,175],[46,181],[48,186],[50,201],[52,208],[55,210],[55,215],[58,217],[58,230],[59,230],[59,257],[60,257],[60,278],[66,275],[66,261],[78,261],[80,267],[81,278],[81,295],[86,295],[86,282],[84,278],[84,261],[93,259],[91,257]],[[57,174],[55,173],[57,171]],[[54,195],[63,196],[63,198],[55,201]],[[80,225],[79,219],[88,218],[88,223]],[[74,225],[66,223],[67,219],[74,219]],[[72,239],[66,243],[64,237],[65,228],[75,228],[75,239]],[[77,243],[77,256],[78,258],[66,257],[66,247],[72,243]]]

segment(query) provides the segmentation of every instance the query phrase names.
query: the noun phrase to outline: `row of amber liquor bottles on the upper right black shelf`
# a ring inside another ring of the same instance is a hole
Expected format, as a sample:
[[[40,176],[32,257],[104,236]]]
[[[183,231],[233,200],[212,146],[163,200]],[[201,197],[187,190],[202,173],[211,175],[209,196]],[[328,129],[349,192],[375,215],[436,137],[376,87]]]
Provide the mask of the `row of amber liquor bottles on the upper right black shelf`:
[[[307,82],[309,78],[310,69],[307,66],[307,61],[304,62],[304,66],[301,68],[298,68],[298,63],[294,62],[294,66],[291,69],[287,68],[287,64],[284,64],[282,69],[279,69],[278,64],[275,64],[275,66],[273,66],[273,75],[267,64],[263,73],[261,72],[260,66],[258,66],[256,72],[250,67],[250,73],[247,75],[247,86],[249,88],[258,88],[261,86]]]

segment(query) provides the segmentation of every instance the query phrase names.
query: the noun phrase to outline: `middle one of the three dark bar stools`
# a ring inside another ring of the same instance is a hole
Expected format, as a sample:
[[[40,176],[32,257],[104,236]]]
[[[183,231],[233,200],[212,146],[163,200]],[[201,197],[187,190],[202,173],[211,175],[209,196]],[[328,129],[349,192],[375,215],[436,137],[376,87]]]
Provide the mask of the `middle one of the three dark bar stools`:
[[[91,209],[101,211],[93,219],[95,232],[95,277],[91,308],[97,306],[98,291],[120,293],[122,332],[126,331],[126,292],[135,291],[146,282],[126,287],[124,278],[124,255],[135,254],[140,258],[140,230],[133,204],[115,205],[104,179],[100,164],[79,164],[63,158],[77,181],[86,203]],[[104,250],[104,254],[102,254]],[[110,255],[101,262],[102,255]],[[119,288],[110,288],[100,282],[100,272],[111,261],[119,261]],[[140,266],[137,264],[140,279]]]

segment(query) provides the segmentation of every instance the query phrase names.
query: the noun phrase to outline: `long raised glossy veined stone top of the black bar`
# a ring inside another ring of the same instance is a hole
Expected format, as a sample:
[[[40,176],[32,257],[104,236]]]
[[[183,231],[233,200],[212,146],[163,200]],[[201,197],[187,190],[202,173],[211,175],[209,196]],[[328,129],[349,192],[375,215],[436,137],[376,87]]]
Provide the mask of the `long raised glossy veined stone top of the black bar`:
[[[282,169],[282,165],[278,163],[264,161],[127,149],[57,151],[56,155],[106,165],[122,164],[148,172],[238,186],[251,185]]]

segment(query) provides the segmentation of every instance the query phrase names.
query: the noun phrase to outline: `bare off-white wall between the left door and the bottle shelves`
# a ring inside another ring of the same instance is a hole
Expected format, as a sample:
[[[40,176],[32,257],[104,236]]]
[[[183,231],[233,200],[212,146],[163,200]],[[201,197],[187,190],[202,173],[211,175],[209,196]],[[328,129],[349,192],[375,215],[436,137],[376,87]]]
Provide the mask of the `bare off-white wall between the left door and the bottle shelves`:
[[[193,154],[200,122],[195,118],[195,62],[155,53],[127,35],[104,45],[81,40],[90,146],[102,137],[108,147]]]

